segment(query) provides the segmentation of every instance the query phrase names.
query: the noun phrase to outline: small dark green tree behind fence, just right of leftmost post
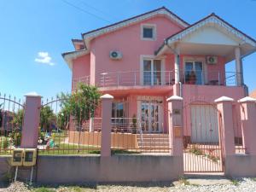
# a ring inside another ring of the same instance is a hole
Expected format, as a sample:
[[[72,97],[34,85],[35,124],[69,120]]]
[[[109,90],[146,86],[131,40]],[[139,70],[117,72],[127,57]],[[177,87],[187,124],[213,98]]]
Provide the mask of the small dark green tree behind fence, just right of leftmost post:
[[[50,125],[55,121],[55,113],[49,106],[41,108],[40,112],[40,125],[44,128],[44,131],[50,131]]]

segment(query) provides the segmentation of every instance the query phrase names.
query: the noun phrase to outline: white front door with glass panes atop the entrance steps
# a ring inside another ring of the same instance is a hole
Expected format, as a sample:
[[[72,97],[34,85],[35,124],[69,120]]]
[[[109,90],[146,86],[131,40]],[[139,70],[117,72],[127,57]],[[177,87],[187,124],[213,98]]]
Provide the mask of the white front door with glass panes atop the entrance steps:
[[[162,105],[160,102],[142,101],[140,102],[140,121],[142,131],[160,132]]]

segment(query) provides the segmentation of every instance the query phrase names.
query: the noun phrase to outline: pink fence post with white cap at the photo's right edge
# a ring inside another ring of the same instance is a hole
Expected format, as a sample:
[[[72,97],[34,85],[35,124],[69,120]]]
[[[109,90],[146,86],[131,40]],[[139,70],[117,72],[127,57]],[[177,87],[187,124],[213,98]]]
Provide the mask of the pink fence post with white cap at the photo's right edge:
[[[241,131],[243,146],[247,154],[256,155],[256,99],[244,97],[241,103]]]

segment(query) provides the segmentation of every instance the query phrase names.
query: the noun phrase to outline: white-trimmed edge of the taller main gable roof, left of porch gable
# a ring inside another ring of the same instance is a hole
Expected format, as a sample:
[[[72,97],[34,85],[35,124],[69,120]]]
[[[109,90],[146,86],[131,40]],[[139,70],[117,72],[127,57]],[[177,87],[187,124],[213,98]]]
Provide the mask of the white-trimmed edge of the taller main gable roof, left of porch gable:
[[[154,10],[144,13],[142,15],[137,15],[137,16],[131,17],[130,19],[127,19],[127,20],[121,20],[121,21],[114,23],[112,25],[109,25],[109,26],[103,26],[101,28],[98,28],[98,29],[90,31],[90,32],[84,32],[82,34],[82,38],[84,39],[85,46],[86,46],[86,48],[90,47],[90,40],[92,38],[96,38],[96,37],[98,37],[102,34],[108,33],[108,32],[117,31],[120,28],[123,28],[125,26],[130,26],[130,25],[140,22],[142,20],[148,20],[149,18],[152,18],[155,15],[165,15],[167,18],[174,20],[177,23],[177,25],[182,26],[182,27],[189,26],[189,23],[187,23],[186,21],[182,20],[180,17],[178,17],[177,15],[172,13],[172,11],[170,11],[169,9],[166,9],[166,7],[161,7],[159,9],[154,9]]]

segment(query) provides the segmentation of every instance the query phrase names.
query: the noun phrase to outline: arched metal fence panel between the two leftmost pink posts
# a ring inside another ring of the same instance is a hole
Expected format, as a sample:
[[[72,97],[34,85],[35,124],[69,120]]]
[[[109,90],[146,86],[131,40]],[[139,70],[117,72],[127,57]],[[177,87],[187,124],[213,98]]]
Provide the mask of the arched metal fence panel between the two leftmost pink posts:
[[[73,114],[68,100],[42,102],[38,154],[100,154],[102,119],[90,119],[82,106]]]

